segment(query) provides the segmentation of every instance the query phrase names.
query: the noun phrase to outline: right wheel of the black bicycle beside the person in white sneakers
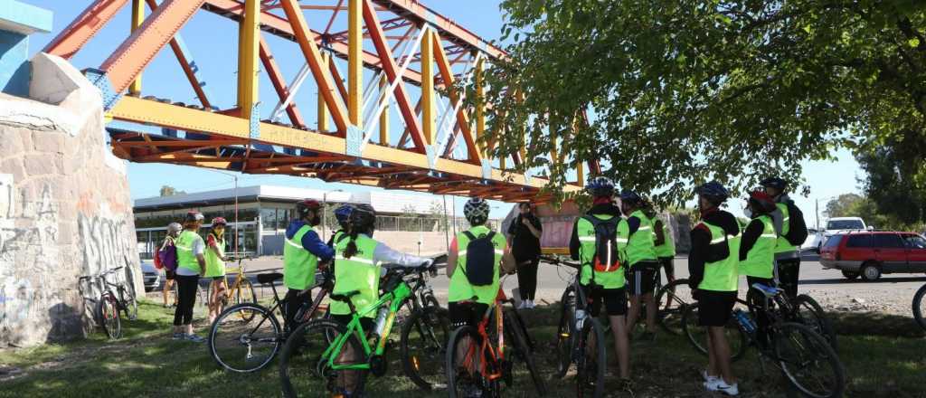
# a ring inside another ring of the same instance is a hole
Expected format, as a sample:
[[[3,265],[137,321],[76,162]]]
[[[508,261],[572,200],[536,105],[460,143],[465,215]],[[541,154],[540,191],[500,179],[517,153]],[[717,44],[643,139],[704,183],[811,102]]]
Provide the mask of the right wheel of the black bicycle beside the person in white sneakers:
[[[845,370],[826,339],[799,323],[783,323],[772,332],[776,360],[797,390],[813,398],[842,396]]]

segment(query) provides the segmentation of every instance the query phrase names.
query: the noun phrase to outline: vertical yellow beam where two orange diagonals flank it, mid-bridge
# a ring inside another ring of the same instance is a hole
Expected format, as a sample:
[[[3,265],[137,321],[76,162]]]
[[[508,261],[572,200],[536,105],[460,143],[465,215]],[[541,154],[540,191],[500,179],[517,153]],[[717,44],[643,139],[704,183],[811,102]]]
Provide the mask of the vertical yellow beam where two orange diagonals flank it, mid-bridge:
[[[350,123],[363,129],[363,0],[347,5],[347,111]]]

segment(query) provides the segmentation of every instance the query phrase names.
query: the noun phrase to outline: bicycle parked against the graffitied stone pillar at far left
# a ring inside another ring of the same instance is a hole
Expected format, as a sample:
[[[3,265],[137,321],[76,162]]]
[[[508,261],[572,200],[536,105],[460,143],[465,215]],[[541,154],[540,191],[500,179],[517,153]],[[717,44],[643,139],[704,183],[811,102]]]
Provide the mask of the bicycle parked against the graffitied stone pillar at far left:
[[[135,300],[134,286],[127,288],[124,281],[111,283],[109,280],[106,280],[107,276],[115,274],[123,268],[125,267],[115,267],[97,275],[78,278],[79,283],[84,280],[88,282],[92,282],[93,280],[101,281],[99,286],[103,292],[100,294],[100,298],[97,301],[96,312],[99,314],[100,318],[98,320],[103,326],[103,330],[106,331],[106,335],[112,340],[117,340],[122,337],[122,322],[119,320],[119,312],[125,313],[125,317],[129,320],[138,318],[138,301]],[[115,289],[115,292],[113,289]]]

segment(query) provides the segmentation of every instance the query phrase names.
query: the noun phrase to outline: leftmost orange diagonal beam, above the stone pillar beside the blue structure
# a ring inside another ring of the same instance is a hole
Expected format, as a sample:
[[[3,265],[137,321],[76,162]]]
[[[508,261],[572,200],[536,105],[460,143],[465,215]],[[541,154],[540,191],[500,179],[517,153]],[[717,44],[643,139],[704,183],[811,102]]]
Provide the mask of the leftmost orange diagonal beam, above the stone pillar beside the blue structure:
[[[44,53],[69,59],[83,44],[86,44],[97,31],[103,29],[122,6],[129,0],[97,0],[87,6],[81,15],[74,19],[67,28],[58,33],[42,50]]]

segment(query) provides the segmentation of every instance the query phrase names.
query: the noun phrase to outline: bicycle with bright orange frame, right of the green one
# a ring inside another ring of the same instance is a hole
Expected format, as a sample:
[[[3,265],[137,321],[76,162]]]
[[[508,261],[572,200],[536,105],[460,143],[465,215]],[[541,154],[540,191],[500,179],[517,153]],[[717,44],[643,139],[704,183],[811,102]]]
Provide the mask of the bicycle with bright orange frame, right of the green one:
[[[512,312],[504,311],[505,303],[511,306]],[[540,396],[546,393],[544,380],[533,360],[526,330],[514,318],[516,312],[514,300],[507,298],[499,288],[494,304],[486,309],[479,325],[459,327],[450,335],[444,367],[447,372],[447,391],[451,398],[465,397],[473,390],[481,391],[483,396],[499,397],[501,380],[507,386],[512,385],[514,370],[513,363],[506,358],[506,336],[514,340],[514,354],[531,374],[534,390]],[[495,324],[494,336],[490,336],[488,331],[491,321]],[[505,328],[506,324],[508,328]],[[493,344],[493,341],[496,343]],[[462,367],[457,364],[462,364]]]

